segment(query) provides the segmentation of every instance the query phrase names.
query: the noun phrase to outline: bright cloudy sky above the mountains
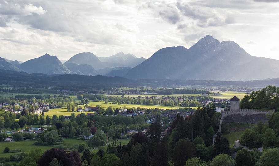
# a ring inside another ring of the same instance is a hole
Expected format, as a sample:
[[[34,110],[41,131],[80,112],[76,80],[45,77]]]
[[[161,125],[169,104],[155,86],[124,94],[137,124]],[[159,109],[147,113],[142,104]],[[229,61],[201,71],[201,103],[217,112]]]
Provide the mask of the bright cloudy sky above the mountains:
[[[0,56],[10,60],[121,51],[149,58],[207,34],[279,60],[279,0],[0,0]]]

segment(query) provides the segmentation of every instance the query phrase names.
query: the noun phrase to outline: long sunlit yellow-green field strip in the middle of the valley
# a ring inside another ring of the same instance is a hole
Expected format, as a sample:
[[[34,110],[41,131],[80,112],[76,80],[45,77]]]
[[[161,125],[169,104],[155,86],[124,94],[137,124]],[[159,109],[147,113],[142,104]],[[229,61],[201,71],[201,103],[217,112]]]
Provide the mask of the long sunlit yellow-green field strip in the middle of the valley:
[[[132,107],[140,107],[140,108],[159,108],[159,109],[178,109],[181,108],[179,106],[162,106],[162,105],[141,105],[141,104],[110,104],[109,103],[105,103],[104,101],[99,101],[99,102],[90,102],[89,105],[90,106],[96,106],[96,105],[101,105],[104,108],[107,108],[109,106],[113,107],[113,108],[123,108],[124,106],[126,106],[127,108],[132,108]],[[195,108],[195,107],[192,107]]]

